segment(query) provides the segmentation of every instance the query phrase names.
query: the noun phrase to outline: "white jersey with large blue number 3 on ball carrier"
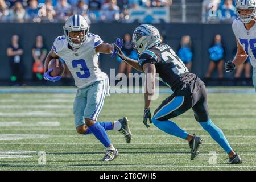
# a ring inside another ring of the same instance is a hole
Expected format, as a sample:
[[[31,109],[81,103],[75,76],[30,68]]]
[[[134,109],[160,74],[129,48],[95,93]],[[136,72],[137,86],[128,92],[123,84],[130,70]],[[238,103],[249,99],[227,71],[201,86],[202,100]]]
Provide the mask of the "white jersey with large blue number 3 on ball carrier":
[[[55,39],[52,49],[65,62],[78,88],[85,88],[93,82],[104,80],[107,77],[98,68],[99,53],[95,52],[95,48],[101,43],[103,41],[100,36],[88,34],[85,43],[77,51],[73,51],[68,46],[65,36]]]

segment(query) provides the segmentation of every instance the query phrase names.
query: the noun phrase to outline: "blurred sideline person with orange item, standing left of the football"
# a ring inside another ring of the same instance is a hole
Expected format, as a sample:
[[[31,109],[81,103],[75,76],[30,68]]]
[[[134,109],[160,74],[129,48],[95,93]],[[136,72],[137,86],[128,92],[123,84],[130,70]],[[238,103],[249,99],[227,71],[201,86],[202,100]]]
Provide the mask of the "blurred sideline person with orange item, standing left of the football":
[[[33,80],[43,80],[44,73],[44,59],[46,59],[47,49],[44,47],[43,36],[36,36],[36,42],[32,48],[32,57],[33,57]]]

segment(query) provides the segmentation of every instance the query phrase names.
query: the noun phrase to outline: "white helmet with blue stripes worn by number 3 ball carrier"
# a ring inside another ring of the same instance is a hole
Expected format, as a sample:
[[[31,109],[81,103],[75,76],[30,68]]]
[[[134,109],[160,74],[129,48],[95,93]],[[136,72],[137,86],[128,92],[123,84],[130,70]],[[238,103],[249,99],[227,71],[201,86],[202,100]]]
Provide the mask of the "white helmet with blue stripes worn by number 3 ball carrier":
[[[66,36],[66,39],[68,41],[68,43],[70,44],[70,46],[72,46],[73,48],[79,48],[81,47],[81,45],[85,42],[88,32],[89,32],[89,24],[86,22],[85,18],[81,15],[72,15],[70,16],[65,25],[63,26],[63,30],[64,30],[64,34]],[[84,32],[84,36],[81,38],[71,38],[69,36],[69,32],[80,32],[83,31]],[[72,39],[80,39],[80,43],[79,44],[75,44],[73,43]]]

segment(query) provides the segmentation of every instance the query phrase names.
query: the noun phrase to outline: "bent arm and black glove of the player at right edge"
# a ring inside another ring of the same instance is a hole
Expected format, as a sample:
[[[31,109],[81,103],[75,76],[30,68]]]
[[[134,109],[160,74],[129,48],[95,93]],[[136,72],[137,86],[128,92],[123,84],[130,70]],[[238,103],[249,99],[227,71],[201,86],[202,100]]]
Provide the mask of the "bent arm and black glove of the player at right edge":
[[[246,61],[247,57],[248,55],[237,40],[237,54],[233,61],[228,61],[228,63],[225,64],[226,72],[232,72],[234,69],[238,68]]]

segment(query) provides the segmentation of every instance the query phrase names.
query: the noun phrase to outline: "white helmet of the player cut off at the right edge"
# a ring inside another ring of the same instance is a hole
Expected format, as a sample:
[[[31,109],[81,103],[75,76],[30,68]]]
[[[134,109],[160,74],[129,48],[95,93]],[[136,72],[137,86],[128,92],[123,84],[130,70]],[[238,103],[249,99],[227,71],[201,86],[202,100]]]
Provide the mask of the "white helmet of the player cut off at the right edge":
[[[240,15],[241,10],[253,10],[251,14]],[[236,1],[237,17],[243,23],[250,23],[256,18],[256,0],[237,0]]]

